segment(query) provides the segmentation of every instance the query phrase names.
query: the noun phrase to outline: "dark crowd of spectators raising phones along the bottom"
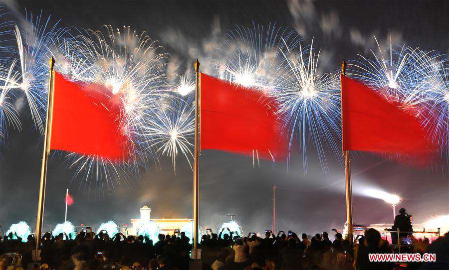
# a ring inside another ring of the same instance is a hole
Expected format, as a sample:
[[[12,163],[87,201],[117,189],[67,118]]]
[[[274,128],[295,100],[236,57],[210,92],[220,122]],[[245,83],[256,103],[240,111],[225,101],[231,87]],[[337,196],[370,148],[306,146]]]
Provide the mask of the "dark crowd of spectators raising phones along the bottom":
[[[435,240],[413,240],[413,253],[435,253],[435,263],[370,262],[370,253],[394,253],[395,247],[368,229],[354,245],[340,233],[329,239],[323,232],[314,236],[280,231],[264,236],[249,233],[240,236],[223,229],[208,231],[200,242],[204,270],[393,270],[449,269],[449,232]],[[40,262],[33,262],[35,239],[23,242],[15,233],[5,236],[0,244],[0,270],[188,270],[192,245],[184,232],[159,235],[156,243],[145,236],[110,237],[105,232],[95,235],[80,232],[76,237],[45,233],[41,238]],[[403,251],[402,251],[403,252]]]

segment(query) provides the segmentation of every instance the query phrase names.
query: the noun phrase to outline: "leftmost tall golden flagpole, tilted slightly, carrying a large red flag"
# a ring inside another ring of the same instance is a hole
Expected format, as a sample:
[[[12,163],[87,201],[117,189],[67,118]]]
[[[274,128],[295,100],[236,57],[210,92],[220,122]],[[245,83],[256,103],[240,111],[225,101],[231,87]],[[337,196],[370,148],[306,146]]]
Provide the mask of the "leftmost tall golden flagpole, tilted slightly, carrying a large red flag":
[[[37,222],[36,222],[36,253],[35,261],[38,259],[40,248],[40,238],[42,237],[42,221],[45,203],[45,181],[47,178],[47,161],[50,153],[50,135],[51,135],[51,117],[53,115],[53,90],[54,90],[54,58],[50,59],[50,80],[48,83],[48,102],[47,117],[45,120],[44,147],[42,154],[42,167],[40,172],[39,201],[37,204]]]

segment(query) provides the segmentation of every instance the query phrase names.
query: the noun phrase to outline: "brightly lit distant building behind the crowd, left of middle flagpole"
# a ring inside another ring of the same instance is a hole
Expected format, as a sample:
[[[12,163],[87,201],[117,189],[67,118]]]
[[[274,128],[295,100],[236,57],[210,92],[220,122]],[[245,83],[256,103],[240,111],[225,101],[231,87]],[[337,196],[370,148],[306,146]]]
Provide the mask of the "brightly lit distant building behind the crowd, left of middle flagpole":
[[[162,218],[162,219],[151,219],[151,208],[144,206],[140,208],[140,219],[131,219],[132,228],[128,228],[128,234],[135,235],[137,229],[142,222],[154,221],[160,229],[161,234],[172,235],[175,230],[181,230],[184,224],[191,222],[188,218]],[[126,229],[123,228],[126,232]]]

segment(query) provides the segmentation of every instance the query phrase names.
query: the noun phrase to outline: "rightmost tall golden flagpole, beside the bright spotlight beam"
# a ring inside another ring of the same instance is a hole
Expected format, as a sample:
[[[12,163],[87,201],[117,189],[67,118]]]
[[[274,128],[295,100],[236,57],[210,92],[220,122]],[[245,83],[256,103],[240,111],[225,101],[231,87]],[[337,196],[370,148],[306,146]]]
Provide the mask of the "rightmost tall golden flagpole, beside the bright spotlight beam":
[[[341,75],[346,76],[346,62],[343,60],[341,62]],[[340,81],[340,91],[343,91],[341,81]],[[345,158],[345,189],[346,189],[346,218],[348,222],[348,241],[350,244],[354,242],[354,231],[352,223],[352,185],[351,185],[351,159],[349,158],[349,151],[343,149],[343,95],[340,92],[341,102],[341,141],[342,141],[342,152]]]

